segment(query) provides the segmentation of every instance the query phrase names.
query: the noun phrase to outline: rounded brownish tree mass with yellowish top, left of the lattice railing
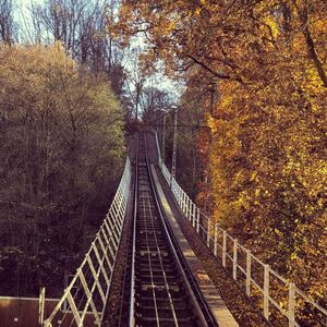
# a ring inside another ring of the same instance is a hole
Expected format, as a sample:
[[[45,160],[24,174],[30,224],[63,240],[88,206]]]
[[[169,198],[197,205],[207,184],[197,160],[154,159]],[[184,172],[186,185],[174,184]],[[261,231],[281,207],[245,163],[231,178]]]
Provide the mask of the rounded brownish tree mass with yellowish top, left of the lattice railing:
[[[2,289],[53,292],[106,213],[123,159],[120,105],[106,78],[52,47],[0,50]],[[14,249],[14,250],[12,250]]]

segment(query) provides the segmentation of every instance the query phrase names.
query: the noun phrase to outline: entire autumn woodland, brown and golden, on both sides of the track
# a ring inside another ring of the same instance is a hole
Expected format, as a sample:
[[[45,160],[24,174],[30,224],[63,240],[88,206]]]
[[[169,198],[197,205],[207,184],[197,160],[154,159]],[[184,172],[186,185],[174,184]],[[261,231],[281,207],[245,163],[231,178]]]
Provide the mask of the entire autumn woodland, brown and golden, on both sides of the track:
[[[326,306],[325,0],[16,7],[0,1],[1,293],[56,294],[114,194],[131,121],[162,144],[165,120],[170,167],[175,106],[186,193]]]

